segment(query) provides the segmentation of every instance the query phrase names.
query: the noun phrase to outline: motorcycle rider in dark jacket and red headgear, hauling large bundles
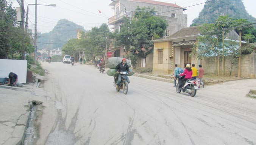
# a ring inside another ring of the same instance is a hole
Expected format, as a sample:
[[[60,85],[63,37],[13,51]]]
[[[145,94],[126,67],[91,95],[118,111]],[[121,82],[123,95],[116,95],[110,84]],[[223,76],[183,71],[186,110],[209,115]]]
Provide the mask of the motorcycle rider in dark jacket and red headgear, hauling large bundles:
[[[117,81],[117,84],[116,84],[116,88],[119,87],[119,84],[121,82],[121,74],[119,74],[119,72],[121,71],[127,71],[128,73],[130,72],[129,70],[129,66],[126,64],[126,59],[122,59],[122,62],[119,63],[117,66],[116,66],[116,73],[118,74],[118,81]],[[126,80],[128,83],[130,83],[130,80],[127,76],[126,77]]]

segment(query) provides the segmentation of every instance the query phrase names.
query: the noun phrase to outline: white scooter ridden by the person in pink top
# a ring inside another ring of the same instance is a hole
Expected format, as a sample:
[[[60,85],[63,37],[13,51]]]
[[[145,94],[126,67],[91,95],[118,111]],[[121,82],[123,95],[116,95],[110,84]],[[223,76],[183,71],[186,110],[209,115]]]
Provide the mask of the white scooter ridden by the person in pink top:
[[[180,78],[180,76],[179,76]],[[184,82],[184,86],[183,88],[180,88],[179,83],[176,85],[176,92],[177,93],[181,93],[181,91],[183,91],[183,93],[188,93],[190,96],[194,97],[195,94],[197,93],[197,80],[195,79],[188,79],[186,80],[186,82]]]

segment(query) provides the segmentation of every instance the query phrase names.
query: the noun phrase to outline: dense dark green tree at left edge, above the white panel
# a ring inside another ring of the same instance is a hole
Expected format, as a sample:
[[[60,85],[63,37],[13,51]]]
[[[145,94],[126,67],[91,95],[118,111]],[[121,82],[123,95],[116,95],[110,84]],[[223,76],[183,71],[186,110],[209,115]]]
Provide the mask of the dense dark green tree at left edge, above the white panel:
[[[23,43],[27,53],[33,52],[30,37],[23,33],[16,22],[16,9],[0,0],[0,59],[21,59]]]

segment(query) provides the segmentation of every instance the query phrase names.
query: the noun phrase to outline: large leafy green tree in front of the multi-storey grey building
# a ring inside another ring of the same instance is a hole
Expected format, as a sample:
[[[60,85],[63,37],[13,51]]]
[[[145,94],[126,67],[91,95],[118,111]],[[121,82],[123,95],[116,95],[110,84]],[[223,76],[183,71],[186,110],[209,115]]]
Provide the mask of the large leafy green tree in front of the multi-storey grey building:
[[[134,19],[124,18],[124,24],[117,34],[117,41],[120,46],[124,46],[126,52],[130,52],[126,57],[131,59],[132,65],[136,68],[137,58],[145,58],[144,51],[153,47],[151,41],[154,37],[162,37],[167,28],[167,21],[162,17],[153,15],[154,9],[137,7]]]

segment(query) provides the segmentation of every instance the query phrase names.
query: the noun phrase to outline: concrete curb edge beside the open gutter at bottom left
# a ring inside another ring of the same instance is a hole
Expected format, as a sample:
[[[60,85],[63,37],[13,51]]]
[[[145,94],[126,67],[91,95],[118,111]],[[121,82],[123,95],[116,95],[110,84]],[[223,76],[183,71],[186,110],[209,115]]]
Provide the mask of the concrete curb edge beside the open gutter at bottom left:
[[[27,130],[28,119],[31,114],[30,109],[31,109],[32,105],[33,105],[33,103],[32,103],[32,101],[30,101],[29,105],[28,105],[27,113],[25,113],[19,117],[19,119],[17,120],[17,124],[14,127],[14,131],[12,132],[11,137],[8,140],[6,140],[6,142],[3,143],[3,145],[21,145],[22,144],[22,142],[25,138],[25,132]]]

